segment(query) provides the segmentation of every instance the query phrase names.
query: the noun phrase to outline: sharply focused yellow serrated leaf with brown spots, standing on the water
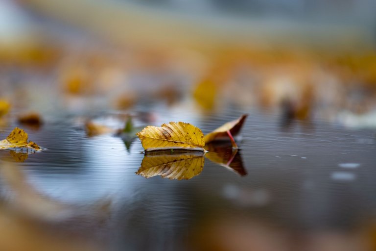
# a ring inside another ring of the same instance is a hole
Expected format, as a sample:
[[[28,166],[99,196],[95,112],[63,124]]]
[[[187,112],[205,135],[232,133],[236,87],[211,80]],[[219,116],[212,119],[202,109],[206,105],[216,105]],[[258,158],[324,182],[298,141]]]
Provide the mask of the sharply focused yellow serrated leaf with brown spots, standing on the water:
[[[146,126],[136,133],[145,151],[184,149],[204,150],[204,135],[196,126],[184,122],[170,122],[158,126]]]

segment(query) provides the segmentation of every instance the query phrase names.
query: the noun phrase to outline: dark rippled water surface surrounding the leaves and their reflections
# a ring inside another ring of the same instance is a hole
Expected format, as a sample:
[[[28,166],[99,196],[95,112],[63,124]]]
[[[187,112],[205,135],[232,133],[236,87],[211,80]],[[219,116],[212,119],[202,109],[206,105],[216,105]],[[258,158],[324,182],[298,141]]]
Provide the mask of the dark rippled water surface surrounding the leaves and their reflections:
[[[144,178],[135,174],[144,157],[139,139],[127,149],[118,137],[86,136],[77,116],[51,115],[39,130],[24,128],[46,151],[19,166],[9,166],[9,151],[1,151],[3,210],[48,229],[42,239],[74,236],[93,250],[372,249],[374,131],[281,126],[278,116],[251,109],[152,109],[152,124],[185,121],[204,133],[248,113],[236,155],[247,174],[206,158],[189,180]]]

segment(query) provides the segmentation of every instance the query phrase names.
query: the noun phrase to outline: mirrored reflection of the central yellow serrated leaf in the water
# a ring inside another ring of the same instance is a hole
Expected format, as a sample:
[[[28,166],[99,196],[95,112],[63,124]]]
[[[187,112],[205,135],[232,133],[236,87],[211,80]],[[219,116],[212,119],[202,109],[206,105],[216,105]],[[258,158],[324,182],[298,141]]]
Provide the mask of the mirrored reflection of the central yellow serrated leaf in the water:
[[[146,178],[190,179],[201,173],[204,161],[203,154],[145,155],[136,174]]]

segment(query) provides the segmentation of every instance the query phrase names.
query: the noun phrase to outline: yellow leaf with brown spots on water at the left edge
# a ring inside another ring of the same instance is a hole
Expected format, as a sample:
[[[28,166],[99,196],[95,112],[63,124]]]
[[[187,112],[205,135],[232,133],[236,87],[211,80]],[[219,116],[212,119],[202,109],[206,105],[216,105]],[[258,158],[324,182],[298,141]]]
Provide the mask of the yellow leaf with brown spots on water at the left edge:
[[[14,128],[13,131],[0,141],[0,150],[1,149],[13,149],[13,148],[27,148],[33,151],[40,151],[41,148],[32,141],[27,141],[27,133],[18,127]]]

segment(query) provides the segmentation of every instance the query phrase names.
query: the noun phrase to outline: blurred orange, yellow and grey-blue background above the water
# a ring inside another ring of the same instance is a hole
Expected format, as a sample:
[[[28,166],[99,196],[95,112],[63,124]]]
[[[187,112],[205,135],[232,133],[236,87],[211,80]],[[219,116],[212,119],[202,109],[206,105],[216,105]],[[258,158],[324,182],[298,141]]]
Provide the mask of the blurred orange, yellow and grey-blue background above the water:
[[[375,5],[4,0],[1,91],[48,82],[114,109],[192,99],[374,127]]]

